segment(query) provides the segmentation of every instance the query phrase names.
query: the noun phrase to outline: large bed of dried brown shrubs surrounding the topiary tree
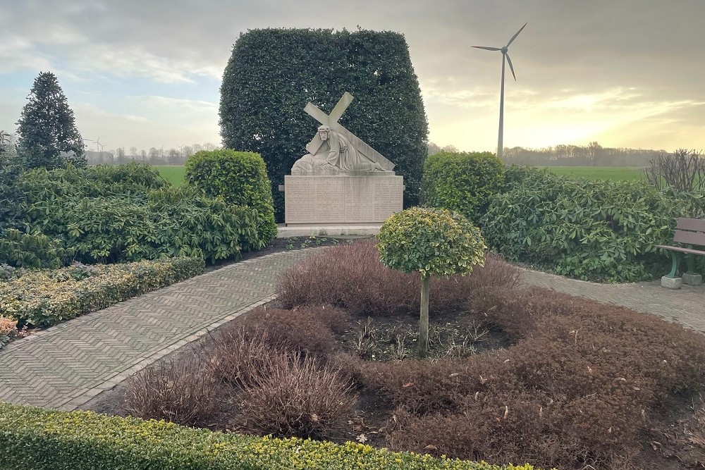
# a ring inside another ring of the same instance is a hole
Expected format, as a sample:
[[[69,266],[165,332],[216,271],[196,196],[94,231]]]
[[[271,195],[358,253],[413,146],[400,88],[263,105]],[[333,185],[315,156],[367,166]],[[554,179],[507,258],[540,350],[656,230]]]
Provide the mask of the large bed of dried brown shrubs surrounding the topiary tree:
[[[219,387],[211,427],[544,468],[701,465],[705,414],[684,403],[703,385],[702,335],[521,288],[490,257],[431,283],[436,340],[417,360],[419,280],[376,260],[370,242],[326,250],[281,278],[278,308],[203,348],[201,376]]]

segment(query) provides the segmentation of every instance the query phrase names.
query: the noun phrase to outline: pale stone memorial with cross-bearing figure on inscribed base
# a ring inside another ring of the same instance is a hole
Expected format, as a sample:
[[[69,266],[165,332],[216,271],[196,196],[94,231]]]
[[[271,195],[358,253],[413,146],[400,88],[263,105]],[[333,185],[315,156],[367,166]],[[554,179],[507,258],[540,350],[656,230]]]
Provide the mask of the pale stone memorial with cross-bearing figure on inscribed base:
[[[345,92],[330,114],[311,102],[304,109],[319,127],[280,188],[292,235],[374,234],[402,210],[403,177],[394,164],[338,123],[352,101]]]

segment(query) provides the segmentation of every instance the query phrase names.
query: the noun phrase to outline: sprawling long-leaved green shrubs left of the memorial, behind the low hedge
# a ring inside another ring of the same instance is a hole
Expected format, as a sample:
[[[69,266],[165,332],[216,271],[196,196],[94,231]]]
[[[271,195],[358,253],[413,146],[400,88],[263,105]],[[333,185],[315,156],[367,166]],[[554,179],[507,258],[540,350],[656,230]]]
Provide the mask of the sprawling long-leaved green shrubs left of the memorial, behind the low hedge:
[[[137,163],[27,171],[18,183],[26,194],[25,233],[61,239],[85,263],[164,256],[216,261],[259,247],[254,209],[166,184]]]

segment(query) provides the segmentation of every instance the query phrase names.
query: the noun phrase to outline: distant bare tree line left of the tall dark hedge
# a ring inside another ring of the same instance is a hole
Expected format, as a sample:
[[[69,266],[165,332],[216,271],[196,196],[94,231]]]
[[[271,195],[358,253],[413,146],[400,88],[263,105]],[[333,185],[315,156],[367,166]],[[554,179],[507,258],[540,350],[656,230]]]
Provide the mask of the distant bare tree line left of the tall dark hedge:
[[[94,142],[95,143],[95,142]],[[99,144],[97,144],[99,146]],[[85,157],[89,165],[122,165],[137,161],[149,165],[183,165],[186,159],[197,151],[215,150],[219,146],[207,142],[206,144],[182,145],[178,148],[164,149],[164,147],[151,147],[149,150],[137,147],[118,147],[117,149],[87,150]]]

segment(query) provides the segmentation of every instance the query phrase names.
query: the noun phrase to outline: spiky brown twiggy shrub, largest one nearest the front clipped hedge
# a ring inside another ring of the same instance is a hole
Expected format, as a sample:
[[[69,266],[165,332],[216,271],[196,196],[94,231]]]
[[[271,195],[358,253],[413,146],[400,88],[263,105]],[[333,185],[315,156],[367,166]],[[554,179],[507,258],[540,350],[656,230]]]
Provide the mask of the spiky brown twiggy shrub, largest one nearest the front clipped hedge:
[[[273,354],[272,359],[269,373],[245,387],[243,427],[302,438],[339,431],[357,402],[351,381],[298,352]]]

